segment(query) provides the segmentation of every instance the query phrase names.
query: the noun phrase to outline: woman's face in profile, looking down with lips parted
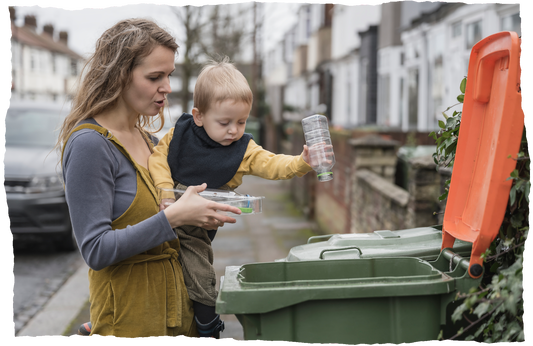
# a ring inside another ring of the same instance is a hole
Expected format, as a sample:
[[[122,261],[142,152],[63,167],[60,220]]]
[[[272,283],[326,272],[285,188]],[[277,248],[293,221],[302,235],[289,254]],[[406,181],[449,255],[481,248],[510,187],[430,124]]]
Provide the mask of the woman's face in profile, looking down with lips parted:
[[[122,94],[128,112],[157,115],[170,93],[169,77],[174,71],[174,52],[157,46],[133,69],[130,85]]]

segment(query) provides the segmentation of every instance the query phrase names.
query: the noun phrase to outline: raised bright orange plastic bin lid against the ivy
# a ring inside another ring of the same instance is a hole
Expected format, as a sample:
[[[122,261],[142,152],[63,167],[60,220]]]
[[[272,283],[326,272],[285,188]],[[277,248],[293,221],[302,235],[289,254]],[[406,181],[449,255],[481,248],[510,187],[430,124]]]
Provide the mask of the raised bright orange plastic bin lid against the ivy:
[[[499,32],[470,54],[461,127],[444,213],[442,248],[472,244],[470,276],[483,272],[481,254],[500,229],[516,167],[524,109],[523,39]]]

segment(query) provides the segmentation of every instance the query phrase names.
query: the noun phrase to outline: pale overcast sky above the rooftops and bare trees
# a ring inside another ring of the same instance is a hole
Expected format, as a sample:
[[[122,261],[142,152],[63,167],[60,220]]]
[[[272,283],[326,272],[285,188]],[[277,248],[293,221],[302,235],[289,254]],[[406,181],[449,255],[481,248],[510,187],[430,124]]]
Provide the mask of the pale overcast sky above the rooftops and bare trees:
[[[251,0],[239,1],[251,4]],[[226,2],[227,3],[227,2]],[[264,51],[270,50],[279,42],[283,34],[296,23],[296,11],[301,0],[266,0],[264,24]],[[90,55],[100,35],[117,21],[126,18],[144,17],[156,21],[167,29],[181,46],[183,33],[177,25],[175,14],[169,6],[182,6],[168,2],[137,1],[105,6],[65,7],[62,5],[43,5],[40,3],[15,4],[17,25],[24,24],[24,16],[34,15],[37,19],[37,32],[45,24],[54,26],[54,33],[67,31],[69,47],[82,56]],[[57,36],[56,36],[57,37]],[[178,50],[179,52],[180,50]],[[178,55],[178,60],[181,55]]]

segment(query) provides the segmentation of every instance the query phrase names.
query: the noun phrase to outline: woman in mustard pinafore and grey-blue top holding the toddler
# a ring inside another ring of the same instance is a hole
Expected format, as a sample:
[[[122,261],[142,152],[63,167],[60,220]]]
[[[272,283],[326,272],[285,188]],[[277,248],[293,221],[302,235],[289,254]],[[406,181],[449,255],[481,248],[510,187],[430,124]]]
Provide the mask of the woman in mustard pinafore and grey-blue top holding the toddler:
[[[98,39],[59,134],[72,226],[89,265],[90,337],[194,338],[192,302],[172,228],[215,229],[240,210],[207,201],[193,186],[160,210],[147,170],[163,122],[178,45],[155,23],[124,20]],[[83,74],[83,73],[82,73]]]

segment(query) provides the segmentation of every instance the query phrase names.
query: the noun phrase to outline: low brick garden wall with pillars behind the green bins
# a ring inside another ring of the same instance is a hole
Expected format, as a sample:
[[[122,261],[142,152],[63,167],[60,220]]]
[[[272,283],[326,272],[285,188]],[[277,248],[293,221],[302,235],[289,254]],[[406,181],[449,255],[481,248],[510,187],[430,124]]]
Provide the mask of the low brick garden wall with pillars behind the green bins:
[[[313,172],[291,180],[291,196],[324,233],[368,233],[442,223],[445,205],[441,185],[448,179],[435,169],[431,156],[410,161],[408,191],[394,184],[396,152],[405,134],[330,129],[336,164],[333,180],[319,183]],[[425,139],[426,134],[418,134]],[[292,124],[282,152],[299,155],[304,141],[301,124]],[[427,143],[418,143],[427,144]],[[444,180],[442,180],[444,179]]]

